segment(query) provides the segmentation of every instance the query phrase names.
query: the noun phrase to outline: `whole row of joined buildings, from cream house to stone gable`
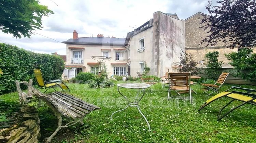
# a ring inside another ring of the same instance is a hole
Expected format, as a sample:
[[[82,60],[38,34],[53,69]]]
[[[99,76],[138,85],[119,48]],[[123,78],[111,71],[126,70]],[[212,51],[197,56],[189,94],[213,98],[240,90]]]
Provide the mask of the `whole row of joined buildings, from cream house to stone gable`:
[[[207,30],[199,28],[204,15],[198,12],[185,20],[180,20],[177,14],[153,13],[153,19],[145,22],[134,31],[128,32],[126,38],[78,37],[76,31],[73,38],[65,43],[67,50],[65,78],[76,77],[79,72],[98,73],[98,63],[91,56],[102,55],[112,57],[105,63],[109,76],[137,76],[143,72],[144,65],[149,68],[149,74],[163,76],[165,72],[176,72],[175,65],[180,61],[181,50],[190,52],[196,62],[204,63],[207,52],[219,51],[219,60],[223,66],[230,67],[225,54],[238,51],[229,49],[225,43],[219,42],[214,47],[200,44]],[[255,48],[254,48],[255,49]]]

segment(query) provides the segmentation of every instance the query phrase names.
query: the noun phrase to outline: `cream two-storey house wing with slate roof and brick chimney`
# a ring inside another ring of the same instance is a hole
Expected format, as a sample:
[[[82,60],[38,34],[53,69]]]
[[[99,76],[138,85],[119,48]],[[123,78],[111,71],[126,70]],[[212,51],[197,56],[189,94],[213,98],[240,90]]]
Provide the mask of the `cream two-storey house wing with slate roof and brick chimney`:
[[[62,43],[66,44],[67,61],[64,76],[67,79],[76,77],[79,72],[91,72],[98,74],[98,63],[91,56],[102,55],[112,57],[105,63],[111,75],[125,75],[127,70],[125,54],[125,39],[115,37],[104,37],[98,34],[97,37],[78,37],[76,31],[73,38]]]

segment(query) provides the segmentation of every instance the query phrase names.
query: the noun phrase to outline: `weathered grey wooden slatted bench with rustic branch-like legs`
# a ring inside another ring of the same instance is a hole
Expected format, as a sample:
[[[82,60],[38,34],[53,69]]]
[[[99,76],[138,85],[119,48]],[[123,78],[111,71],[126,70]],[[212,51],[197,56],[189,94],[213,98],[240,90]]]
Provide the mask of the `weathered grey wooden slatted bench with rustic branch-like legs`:
[[[23,81],[23,83],[28,86],[28,94],[26,95],[26,93],[24,94],[21,90],[18,90],[19,95],[21,94],[19,97],[25,99],[26,103],[27,99],[31,98],[33,92],[33,95],[35,95],[39,100],[39,106],[41,104],[41,100],[43,100],[53,110],[55,116],[58,118],[58,127],[53,134],[47,138],[46,142],[51,142],[52,138],[62,128],[73,126],[76,123],[84,124],[83,119],[90,111],[100,109],[93,104],[89,104],[88,102],[75,98],[67,93],[57,91],[50,94],[44,94],[32,86],[32,80],[30,80],[29,83],[26,81]],[[16,85],[17,89],[20,89],[18,81],[16,81]],[[71,121],[66,125],[62,125],[62,115],[65,117],[71,117],[74,121]]]

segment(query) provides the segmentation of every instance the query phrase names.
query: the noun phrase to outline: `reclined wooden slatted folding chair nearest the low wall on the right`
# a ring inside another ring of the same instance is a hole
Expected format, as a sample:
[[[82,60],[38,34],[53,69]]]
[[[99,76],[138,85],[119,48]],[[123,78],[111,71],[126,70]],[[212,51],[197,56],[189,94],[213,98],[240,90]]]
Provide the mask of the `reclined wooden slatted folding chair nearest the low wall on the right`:
[[[207,88],[208,88],[207,91],[213,90],[212,93],[214,93],[214,92],[219,93],[219,92],[218,92],[218,89],[221,88],[221,86],[222,86],[223,83],[225,82],[225,80],[226,80],[226,78],[228,77],[228,75],[229,75],[229,73],[224,73],[224,72],[223,72],[223,73],[219,76],[219,79],[217,80],[217,82],[216,82],[215,84],[201,84],[201,85],[207,87]],[[218,85],[217,85],[217,84],[218,84]],[[207,91],[205,91],[205,92],[203,92],[203,93],[207,93]],[[212,93],[209,93],[209,94],[207,93],[207,94],[210,95],[210,94],[212,94]],[[208,95],[206,95],[206,96],[208,96]]]

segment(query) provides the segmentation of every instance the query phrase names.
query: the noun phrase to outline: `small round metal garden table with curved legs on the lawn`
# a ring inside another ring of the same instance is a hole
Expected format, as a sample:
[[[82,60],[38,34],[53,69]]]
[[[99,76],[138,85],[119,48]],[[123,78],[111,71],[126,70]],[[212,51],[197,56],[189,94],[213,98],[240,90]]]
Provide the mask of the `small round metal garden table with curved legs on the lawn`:
[[[121,87],[121,88],[129,88],[129,89],[138,89],[138,92],[137,92],[137,95],[136,95],[136,97],[135,97],[134,102],[130,102],[130,101],[126,98],[126,96],[124,96],[124,95],[120,92],[119,87]],[[126,108],[128,108],[129,106],[131,106],[131,107],[137,107],[138,110],[139,110],[139,112],[140,112],[140,114],[144,117],[144,119],[145,119],[146,122],[147,122],[148,131],[151,131],[151,130],[150,130],[150,124],[148,123],[147,118],[146,118],[146,117],[142,114],[142,112],[140,111],[140,107],[139,107],[139,101],[143,98],[143,96],[144,96],[144,94],[145,94],[145,89],[146,89],[146,88],[149,88],[149,87],[150,87],[150,85],[149,85],[149,84],[146,84],[146,83],[120,83],[120,84],[117,84],[117,90],[118,90],[118,92],[127,100],[128,105],[127,105],[124,109],[121,109],[121,110],[118,110],[118,111],[112,113],[112,115],[110,116],[111,120],[112,120],[112,116],[113,116],[115,113],[117,113],[117,112],[119,112],[119,111],[123,111],[123,110],[125,110]],[[139,93],[141,92],[140,89],[143,89],[143,90],[142,90],[142,91],[143,91],[143,94],[142,94],[141,97],[138,97],[138,96],[139,96]]]

